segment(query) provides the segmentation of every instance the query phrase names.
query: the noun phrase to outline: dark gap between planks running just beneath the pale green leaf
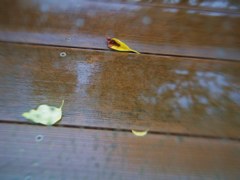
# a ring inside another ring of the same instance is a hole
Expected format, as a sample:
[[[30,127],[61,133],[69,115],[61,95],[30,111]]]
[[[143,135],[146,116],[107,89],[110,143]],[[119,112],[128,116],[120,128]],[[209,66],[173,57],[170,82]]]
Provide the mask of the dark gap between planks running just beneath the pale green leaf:
[[[19,122],[19,121],[7,121],[0,120],[0,124],[19,124],[19,125],[34,125],[46,127],[40,124],[33,124],[31,122]],[[113,131],[113,132],[131,132],[131,129],[123,129],[123,128],[111,128],[111,127],[97,127],[97,126],[81,126],[81,125],[70,125],[70,124],[55,124],[52,127],[63,127],[63,128],[73,128],[73,129],[88,129],[88,130],[103,130],[103,131]],[[240,142],[240,138],[237,137],[220,137],[220,136],[212,136],[212,135],[197,135],[190,133],[174,133],[174,132],[159,132],[159,131],[148,131],[148,134],[152,135],[164,135],[171,137],[186,137],[186,138],[199,138],[199,139],[212,139],[212,140],[224,140],[224,141],[234,141]]]

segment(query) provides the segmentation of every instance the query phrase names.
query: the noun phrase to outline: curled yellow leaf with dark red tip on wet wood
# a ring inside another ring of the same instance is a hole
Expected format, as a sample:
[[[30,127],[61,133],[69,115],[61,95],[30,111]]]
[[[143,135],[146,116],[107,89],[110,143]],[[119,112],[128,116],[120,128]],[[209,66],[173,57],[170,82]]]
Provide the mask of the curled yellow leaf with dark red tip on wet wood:
[[[138,51],[131,49],[128,45],[117,38],[107,38],[107,44],[110,49],[114,49],[116,51],[131,51],[140,54]]]

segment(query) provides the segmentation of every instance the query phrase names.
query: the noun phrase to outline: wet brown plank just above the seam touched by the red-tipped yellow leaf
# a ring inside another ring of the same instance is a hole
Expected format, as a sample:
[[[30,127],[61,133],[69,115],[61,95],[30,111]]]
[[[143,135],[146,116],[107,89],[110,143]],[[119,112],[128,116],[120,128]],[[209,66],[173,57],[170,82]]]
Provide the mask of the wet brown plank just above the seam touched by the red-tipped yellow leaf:
[[[112,1],[13,2],[1,2],[0,41],[107,49],[105,37],[115,36],[143,53],[240,59],[236,12]]]

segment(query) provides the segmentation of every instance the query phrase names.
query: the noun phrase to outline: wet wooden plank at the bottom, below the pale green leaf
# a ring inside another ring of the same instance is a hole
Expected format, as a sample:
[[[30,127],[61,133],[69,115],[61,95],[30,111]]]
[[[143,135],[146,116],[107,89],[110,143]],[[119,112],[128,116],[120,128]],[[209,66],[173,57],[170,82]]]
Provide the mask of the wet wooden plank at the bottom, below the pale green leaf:
[[[0,125],[1,179],[238,179],[239,142]]]

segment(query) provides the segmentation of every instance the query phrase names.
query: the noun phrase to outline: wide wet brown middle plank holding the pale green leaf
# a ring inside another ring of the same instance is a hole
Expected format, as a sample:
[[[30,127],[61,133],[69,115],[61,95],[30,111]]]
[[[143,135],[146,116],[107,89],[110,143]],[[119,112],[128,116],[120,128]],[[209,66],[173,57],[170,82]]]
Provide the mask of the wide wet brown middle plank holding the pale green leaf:
[[[240,138],[236,61],[0,43],[0,62],[2,120],[64,99],[60,124]]]

